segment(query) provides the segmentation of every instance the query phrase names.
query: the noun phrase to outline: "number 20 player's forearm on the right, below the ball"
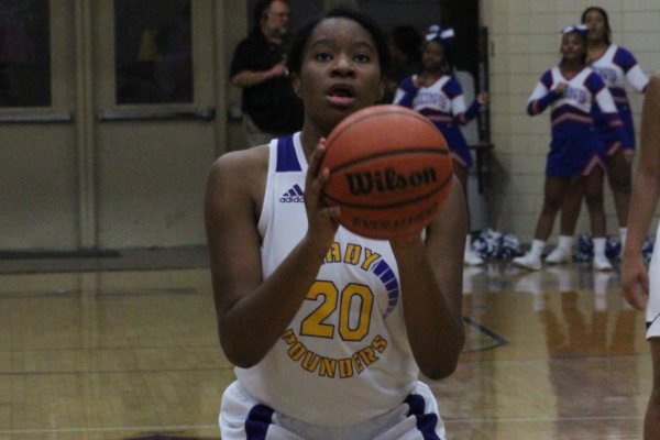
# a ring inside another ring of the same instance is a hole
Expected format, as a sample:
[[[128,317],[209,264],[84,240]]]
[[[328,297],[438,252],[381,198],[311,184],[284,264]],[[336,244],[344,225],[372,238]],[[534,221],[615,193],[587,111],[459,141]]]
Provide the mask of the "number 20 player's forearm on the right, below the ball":
[[[463,253],[468,210],[453,177],[442,211],[419,235],[392,240],[399,268],[408,342],[421,372],[438,380],[451,375],[465,342],[461,315]]]

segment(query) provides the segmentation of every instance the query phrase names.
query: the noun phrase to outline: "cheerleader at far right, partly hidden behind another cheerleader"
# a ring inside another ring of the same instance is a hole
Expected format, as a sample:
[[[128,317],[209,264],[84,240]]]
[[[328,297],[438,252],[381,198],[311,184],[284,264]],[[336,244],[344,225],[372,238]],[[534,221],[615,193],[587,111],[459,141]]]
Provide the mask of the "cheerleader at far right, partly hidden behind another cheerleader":
[[[622,249],[626,242],[626,226],[628,207],[630,205],[631,166],[635,155],[635,127],[630,103],[626,95],[626,82],[635,90],[644,91],[648,78],[641,72],[635,56],[623,47],[612,43],[612,30],[607,12],[598,7],[587,8],[582,13],[582,23],[588,28],[586,34],[587,63],[601,75],[612,96],[614,103],[625,124],[626,135],[630,139],[628,147],[619,142],[607,118],[603,118],[597,106],[594,106],[594,125],[606,148],[607,180],[614,195],[614,205],[619,224]],[[547,257],[546,262],[561,264],[571,261],[571,246],[575,224],[580,217],[583,194],[579,186],[573,186],[568,193],[561,208],[561,230],[558,246]]]

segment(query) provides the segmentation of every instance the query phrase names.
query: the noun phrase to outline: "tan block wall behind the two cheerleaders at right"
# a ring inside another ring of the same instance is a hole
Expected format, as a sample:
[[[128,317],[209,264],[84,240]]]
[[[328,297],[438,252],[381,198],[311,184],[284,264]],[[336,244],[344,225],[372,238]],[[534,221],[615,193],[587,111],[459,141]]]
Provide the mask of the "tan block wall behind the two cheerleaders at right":
[[[528,117],[527,99],[543,72],[559,62],[559,31],[579,23],[582,11],[593,4],[579,0],[482,1],[482,21],[490,28],[492,41],[493,228],[513,232],[522,242],[531,241],[541,209],[550,142],[549,111]],[[631,51],[647,75],[660,68],[660,2],[608,0],[598,6],[608,12],[613,42]],[[628,92],[639,129],[642,96],[630,89]],[[618,224],[607,186],[605,210],[608,233],[616,233]],[[557,234],[559,221],[554,230]],[[583,208],[576,232],[588,230],[588,215]]]

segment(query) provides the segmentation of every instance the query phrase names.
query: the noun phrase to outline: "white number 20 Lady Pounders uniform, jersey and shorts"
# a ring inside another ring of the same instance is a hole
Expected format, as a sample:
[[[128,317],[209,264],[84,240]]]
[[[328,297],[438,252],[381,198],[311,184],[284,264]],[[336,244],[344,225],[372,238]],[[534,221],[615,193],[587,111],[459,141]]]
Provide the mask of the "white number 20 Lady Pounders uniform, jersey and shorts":
[[[264,278],[307,231],[300,134],[270,148],[258,221]],[[235,367],[222,439],[444,439],[436,399],[417,380],[400,301],[389,242],[340,227],[288,329],[257,365]]]

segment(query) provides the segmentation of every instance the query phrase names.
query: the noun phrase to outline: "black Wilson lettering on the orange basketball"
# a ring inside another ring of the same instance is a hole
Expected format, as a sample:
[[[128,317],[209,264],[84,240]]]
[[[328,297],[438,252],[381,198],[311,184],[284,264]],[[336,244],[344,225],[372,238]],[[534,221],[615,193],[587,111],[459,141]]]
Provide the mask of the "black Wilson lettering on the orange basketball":
[[[409,175],[398,174],[394,168],[385,168],[376,172],[346,173],[349,190],[352,195],[398,191],[408,187],[418,187],[438,183],[436,168],[429,167]]]

